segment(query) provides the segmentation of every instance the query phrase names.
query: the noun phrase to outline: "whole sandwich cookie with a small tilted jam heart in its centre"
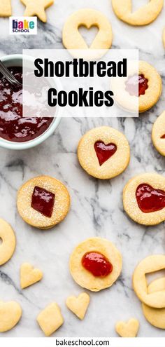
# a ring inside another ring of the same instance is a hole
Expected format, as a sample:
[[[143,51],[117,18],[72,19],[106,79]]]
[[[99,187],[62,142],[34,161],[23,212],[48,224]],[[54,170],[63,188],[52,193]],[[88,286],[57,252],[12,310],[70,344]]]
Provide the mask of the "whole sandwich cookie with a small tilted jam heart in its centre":
[[[127,138],[108,126],[89,130],[78,144],[80,165],[89,175],[99,179],[120,175],[127,168],[129,159]]]

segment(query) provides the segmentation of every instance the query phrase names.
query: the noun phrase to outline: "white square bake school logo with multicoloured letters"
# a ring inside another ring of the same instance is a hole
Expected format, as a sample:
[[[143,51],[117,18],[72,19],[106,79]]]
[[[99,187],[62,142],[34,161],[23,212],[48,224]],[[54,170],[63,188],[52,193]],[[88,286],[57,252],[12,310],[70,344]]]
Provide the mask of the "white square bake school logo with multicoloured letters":
[[[10,17],[9,18],[10,35],[36,35],[37,17]]]

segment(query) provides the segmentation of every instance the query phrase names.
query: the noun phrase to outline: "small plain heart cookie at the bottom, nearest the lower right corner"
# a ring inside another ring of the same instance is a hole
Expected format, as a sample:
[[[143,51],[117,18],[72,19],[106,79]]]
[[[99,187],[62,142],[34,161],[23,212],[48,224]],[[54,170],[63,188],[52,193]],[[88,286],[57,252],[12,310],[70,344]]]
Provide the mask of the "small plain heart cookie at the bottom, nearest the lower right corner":
[[[128,322],[117,322],[115,329],[117,334],[122,337],[136,337],[138,334],[139,322],[131,318]]]

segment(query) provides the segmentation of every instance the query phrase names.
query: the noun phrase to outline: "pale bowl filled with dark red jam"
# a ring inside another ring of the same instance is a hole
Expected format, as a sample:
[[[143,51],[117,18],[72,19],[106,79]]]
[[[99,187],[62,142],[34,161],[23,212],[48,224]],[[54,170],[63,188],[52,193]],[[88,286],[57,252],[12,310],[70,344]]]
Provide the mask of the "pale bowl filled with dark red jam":
[[[1,61],[22,82],[22,55],[7,55]],[[0,73],[0,147],[35,147],[52,135],[60,119],[57,110],[54,117],[23,117],[22,87],[13,87]]]

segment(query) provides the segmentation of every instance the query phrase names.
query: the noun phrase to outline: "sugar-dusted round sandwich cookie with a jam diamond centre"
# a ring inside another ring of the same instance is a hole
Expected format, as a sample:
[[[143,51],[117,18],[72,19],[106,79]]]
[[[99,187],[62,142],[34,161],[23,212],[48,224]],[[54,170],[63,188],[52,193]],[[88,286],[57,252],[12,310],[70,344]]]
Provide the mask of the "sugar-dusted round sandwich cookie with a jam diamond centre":
[[[24,222],[48,229],[62,222],[69,212],[66,186],[54,177],[38,176],[24,183],[17,193],[17,210]]]

